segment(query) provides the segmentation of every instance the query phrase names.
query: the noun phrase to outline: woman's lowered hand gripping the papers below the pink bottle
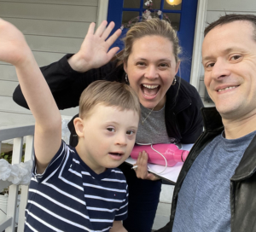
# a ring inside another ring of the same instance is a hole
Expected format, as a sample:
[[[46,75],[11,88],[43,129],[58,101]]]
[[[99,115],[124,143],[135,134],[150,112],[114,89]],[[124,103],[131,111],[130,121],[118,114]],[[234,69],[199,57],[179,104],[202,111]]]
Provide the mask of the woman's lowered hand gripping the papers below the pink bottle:
[[[148,154],[143,151],[143,153],[139,153],[137,158],[137,168],[134,169],[138,178],[150,181],[160,180],[159,177],[154,176],[153,173],[148,172]]]

